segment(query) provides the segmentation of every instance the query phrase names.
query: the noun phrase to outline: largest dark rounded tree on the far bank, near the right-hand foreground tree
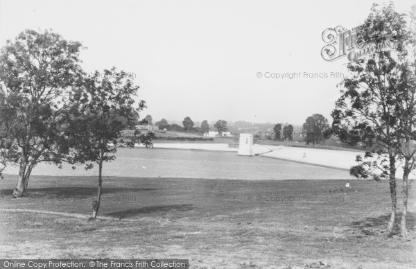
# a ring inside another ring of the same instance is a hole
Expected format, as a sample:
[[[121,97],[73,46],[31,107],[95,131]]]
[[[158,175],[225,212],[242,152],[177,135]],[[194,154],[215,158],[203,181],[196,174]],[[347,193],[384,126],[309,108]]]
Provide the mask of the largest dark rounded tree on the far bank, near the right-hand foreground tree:
[[[315,145],[319,144],[320,141],[327,137],[329,123],[328,120],[321,114],[313,114],[312,116],[306,118],[302,127],[306,145],[309,145],[311,142]]]

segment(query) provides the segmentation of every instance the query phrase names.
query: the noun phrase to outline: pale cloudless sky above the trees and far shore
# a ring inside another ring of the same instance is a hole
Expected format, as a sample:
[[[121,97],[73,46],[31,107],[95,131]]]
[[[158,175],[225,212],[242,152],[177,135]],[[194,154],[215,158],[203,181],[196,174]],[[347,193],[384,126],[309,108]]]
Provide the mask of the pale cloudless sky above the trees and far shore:
[[[362,24],[374,2],[0,0],[0,47],[26,28],[82,42],[85,71],[132,73],[154,121],[300,125],[315,113],[331,121],[348,74],[346,58],[322,58],[322,31]]]

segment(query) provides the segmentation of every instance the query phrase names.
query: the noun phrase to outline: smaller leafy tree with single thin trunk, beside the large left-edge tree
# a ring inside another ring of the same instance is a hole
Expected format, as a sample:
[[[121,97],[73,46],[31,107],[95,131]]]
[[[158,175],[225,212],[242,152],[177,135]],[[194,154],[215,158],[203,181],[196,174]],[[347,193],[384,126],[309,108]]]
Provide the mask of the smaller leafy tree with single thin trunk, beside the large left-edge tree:
[[[138,86],[132,82],[132,76],[116,69],[105,70],[105,76],[98,72],[89,79],[85,89],[73,98],[76,105],[67,113],[70,128],[67,135],[73,146],[76,162],[86,163],[87,169],[98,165],[98,190],[92,203],[92,218],[95,219],[100,208],[103,189],[103,163],[115,159],[117,138],[121,130],[135,128],[135,113],[144,109],[141,101],[137,109],[133,108]],[[133,138],[129,145],[144,143],[146,147],[154,137],[152,132]],[[146,139],[147,138],[147,139]],[[146,141],[147,140],[147,141]]]

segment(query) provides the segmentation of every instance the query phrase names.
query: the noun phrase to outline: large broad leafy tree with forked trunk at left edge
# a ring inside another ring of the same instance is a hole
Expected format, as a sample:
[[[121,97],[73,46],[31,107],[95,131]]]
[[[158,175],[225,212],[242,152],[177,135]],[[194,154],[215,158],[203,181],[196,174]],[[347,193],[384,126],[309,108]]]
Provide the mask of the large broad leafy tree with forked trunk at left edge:
[[[81,49],[57,33],[26,30],[1,50],[0,162],[19,165],[14,198],[40,162],[71,162],[62,115],[73,105],[73,90],[83,87]]]

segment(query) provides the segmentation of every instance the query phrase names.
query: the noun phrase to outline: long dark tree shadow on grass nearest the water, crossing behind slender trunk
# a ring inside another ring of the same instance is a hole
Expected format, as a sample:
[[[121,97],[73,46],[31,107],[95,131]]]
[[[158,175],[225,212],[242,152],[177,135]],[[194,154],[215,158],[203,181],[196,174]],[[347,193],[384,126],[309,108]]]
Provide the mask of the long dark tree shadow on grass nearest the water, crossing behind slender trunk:
[[[103,188],[103,194],[109,193],[136,193],[141,191],[157,191],[155,188]],[[12,189],[0,189],[1,196],[11,196]],[[95,196],[96,187],[80,187],[80,186],[63,186],[50,188],[28,189],[24,194],[25,197],[42,198],[46,196],[62,196],[62,197],[89,197]]]

